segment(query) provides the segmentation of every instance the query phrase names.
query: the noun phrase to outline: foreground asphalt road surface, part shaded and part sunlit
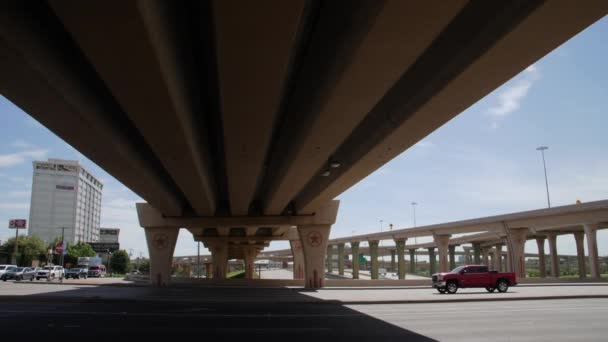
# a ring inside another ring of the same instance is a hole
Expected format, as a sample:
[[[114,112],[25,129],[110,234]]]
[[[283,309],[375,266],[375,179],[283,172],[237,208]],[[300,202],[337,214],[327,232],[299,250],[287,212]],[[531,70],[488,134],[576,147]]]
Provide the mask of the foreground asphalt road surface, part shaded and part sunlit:
[[[31,332],[105,341],[606,341],[607,315],[608,299],[342,305],[0,298],[3,340]]]

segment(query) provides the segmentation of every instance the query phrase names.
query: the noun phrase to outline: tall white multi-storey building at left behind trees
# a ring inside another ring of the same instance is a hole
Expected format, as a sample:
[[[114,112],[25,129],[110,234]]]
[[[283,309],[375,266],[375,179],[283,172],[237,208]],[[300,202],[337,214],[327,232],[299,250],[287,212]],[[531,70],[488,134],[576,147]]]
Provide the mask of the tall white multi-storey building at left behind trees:
[[[35,161],[29,235],[47,243],[99,240],[103,184],[75,160]]]

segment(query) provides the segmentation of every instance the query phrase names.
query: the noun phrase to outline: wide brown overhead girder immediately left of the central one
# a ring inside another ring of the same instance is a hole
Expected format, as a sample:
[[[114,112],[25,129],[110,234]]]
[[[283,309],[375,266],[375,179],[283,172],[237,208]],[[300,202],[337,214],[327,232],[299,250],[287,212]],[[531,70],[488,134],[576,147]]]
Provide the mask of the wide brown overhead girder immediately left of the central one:
[[[194,212],[214,215],[215,181],[193,97],[198,86],[187,71],[194,61],[177,44],[179,24],[164,15],[171,5],[127,1],[117,10],[102,2],[51,1],[51,6]]]

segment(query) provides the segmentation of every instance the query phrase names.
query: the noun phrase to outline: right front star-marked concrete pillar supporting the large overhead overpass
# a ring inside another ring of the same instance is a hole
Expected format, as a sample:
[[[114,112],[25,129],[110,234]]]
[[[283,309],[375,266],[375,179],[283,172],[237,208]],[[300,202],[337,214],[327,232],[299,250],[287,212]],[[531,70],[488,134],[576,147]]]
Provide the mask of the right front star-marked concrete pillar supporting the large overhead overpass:
[[[305,287],[317,289],[325,286],[325,252],[330,225],[298,226],[298,235],[304,252]]]

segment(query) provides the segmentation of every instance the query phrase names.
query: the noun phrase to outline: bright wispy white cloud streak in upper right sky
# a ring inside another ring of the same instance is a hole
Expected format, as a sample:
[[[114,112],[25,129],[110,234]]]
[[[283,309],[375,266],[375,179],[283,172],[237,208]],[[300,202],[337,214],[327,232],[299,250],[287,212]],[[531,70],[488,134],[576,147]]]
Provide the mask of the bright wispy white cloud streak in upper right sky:
[[[494,118],[492,128],[497,128],[497,120],[518,110],[521,102],[528,95],[532,85],[541,77],[538,67],[534,64],[527,67],[517,80],[509,83],[498,94],[496,103],[488,108],[488,114]]]

